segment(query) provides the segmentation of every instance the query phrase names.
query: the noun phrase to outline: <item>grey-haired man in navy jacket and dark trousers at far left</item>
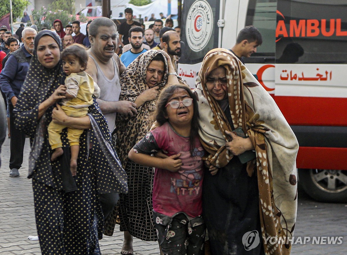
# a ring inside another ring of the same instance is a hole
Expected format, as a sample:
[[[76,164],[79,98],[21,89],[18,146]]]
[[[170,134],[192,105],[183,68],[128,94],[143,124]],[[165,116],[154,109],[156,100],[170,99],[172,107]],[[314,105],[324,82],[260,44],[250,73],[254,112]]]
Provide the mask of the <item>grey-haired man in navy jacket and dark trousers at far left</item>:
[[[16,129],[14,124],[13,108],[18,99],[20,89],[29,69],[31,56],[34,53],[34,38],[37,32],[33,28],[25,28],[22,32],[23,45],[12,52],[8,57],[5,67],[0,73],[1,90],[9,99],[10,110],[10,176],[19,177],[18,169],[23,163],[25,133]]]

